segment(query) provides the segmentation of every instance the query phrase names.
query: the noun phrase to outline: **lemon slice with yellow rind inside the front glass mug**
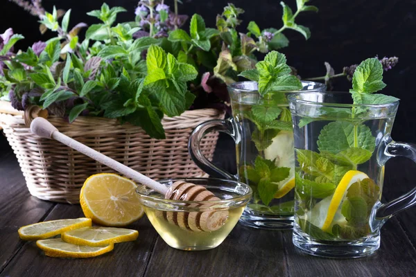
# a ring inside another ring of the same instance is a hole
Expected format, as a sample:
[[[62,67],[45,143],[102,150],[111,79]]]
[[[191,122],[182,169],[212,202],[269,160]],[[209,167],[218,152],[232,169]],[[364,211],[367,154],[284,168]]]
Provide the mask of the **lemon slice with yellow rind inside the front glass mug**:
[[[341,213],[340,205],[347,194],[348,188],[356,181],[366,178],[368,176],[364,172],[349,170],[341,179],[333,195],[322,199],[306,214],[307,220],[326,232],[331,231],[334,224],[345,224],[346,220]]]

